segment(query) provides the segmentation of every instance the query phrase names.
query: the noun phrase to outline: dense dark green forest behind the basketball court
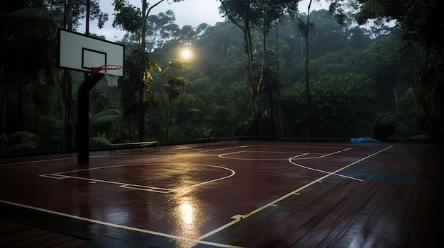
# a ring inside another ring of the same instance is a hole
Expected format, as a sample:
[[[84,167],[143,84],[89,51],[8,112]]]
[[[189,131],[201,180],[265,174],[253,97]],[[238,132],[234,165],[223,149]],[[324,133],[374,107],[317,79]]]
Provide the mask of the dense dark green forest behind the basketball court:
[[[1,155],[76,150],[84,73],[55,66],[57,29],[76,30],[84,18],[84,1],[73,2],[71,22],[66,1],[1,3]],[[98,1],[91,2],[99,25],[113,21],[128,34],[113,40],[126,46],[126,78],[118,88],[102,79],[91,90],[90,148],[211,136],[384,139],[380,129],[392,138],[440,136],[439,123],[421,103],[430,95],[415,77],[427,51],[406,42],[395,20],[358,25],[348,16],[338,21],[332,10],[309,16],[299,10],[270,23],[267,33],[252,27],[252,75],[262,75],[255,112],[245,36],[233,21],[179,27],[166,11],[146,16],[141,39],[123,19],[140,15],[142,6],[116,1],[122,6],[109,20]],[[182,57],[184,49],[190,57]],[[140,73],[145,76],[135,79]]]

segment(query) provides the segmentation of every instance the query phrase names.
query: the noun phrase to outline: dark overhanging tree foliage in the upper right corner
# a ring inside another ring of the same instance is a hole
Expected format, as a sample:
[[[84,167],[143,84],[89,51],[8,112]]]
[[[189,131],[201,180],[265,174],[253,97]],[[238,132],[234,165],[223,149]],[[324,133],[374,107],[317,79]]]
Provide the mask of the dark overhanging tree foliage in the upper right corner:
[[[349,13],[360,24],[367,20],[376,20],[377,24],[395,20],[405,44],[422,48],[414,71],[416,97],[426,112],[426,124],[438,138],[444,138],[443,5],[440,0],[334,0],[330,7],[338,20]],[[355,6],[355,11],[348,11],[346,6]]]

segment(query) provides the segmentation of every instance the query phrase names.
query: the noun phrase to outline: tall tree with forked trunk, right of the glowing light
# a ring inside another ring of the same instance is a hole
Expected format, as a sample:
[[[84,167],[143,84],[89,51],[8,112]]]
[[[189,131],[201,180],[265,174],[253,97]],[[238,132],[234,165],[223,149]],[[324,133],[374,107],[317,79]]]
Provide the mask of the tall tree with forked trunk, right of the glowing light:
[[[265,37],[275,21],[281,19],[285,13],[294,12],[299,1],[289,0],[219,0],[221,13],[238,26],[243,32],[245,68],[247,71],[248,85],[250,87],[253,130],[255,135],[260,135],[259,93],[264,76],[265,66]],[[255,76],[254,49],[252,42],[253,28],[262,30],[262,64],[259,76]]]

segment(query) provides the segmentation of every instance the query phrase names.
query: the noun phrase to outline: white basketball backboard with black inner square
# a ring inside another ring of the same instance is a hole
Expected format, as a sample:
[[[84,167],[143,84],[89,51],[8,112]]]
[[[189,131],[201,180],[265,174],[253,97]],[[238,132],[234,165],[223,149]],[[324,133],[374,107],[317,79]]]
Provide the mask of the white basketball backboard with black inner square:
[[[58,66],[74,71],[91,72],[102,65],[123,66],[125,46],[79,33],[59,29]],[[120,75],[124,76],[123,70]]]

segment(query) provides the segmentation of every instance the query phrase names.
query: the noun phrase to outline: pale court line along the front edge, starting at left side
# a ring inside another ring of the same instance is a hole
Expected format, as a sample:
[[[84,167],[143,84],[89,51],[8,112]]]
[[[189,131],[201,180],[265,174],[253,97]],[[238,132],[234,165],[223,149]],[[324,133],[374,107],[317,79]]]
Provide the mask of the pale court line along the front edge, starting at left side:
[[[197,244],[207,244],[207,245],[212,245],[215,247],[235,247],[233,245],[228,245],[228,244],[219,244],[219,243],[213,243],[213,242],[206,242],[204,240],[199,240],[199,239],[189,239],[187,237],[180,237],[180,236],[176,236],[176,235],[169,235],[167,233],[162,233],[162,232],[155,232],[155,231],[150,231],[150,230],[145,230],[145,229],[141,229],[141,228],[133,228],[133,227],[129,227],[127,225],[118,225],[118,224],[113,224],[113,223],[108,223],[108,222],[104,222],[101,220],[94,220],[94,219],[90,219],[90,218],[84,218],[84,217],[80,217],[77,215],[71,215],[68,213],[61,213],[61,212],[57,212],[57,211],[51,211],[45,208],[37,208],[37,207],[33,207],[33,206],[27,206],[27,205],[23,205],[20,203],[13,203],[11,201],[3,201],[0,200],[1,203],[6,203],[9,205],[13,205],[13,206],[19,206],[22,208],[28,208],[28,209],[32,209],[35,211],[40,211],[40,212],[44,212],[44,213],[52,213],[55,215],[60,215],[63,217],[67,217],[67,218],[72,218],[72,219],[76,219],[76,220],[83,220],[83,221],[87,221],[89,223],[96,223],[96,224],[100,224],[100,225],[107,225],[113,228],[121,228],[121,229],[125,229],[125,230],[131,230],[131,231],[135,231],[135,232],[143,232],[143,233],[147,233],[150,235],[157,235],[157,236],[161,236],[161,237],[168,237],[168,238],[172,238],[175,240],[184,240],[187,242],[194,242]]]

